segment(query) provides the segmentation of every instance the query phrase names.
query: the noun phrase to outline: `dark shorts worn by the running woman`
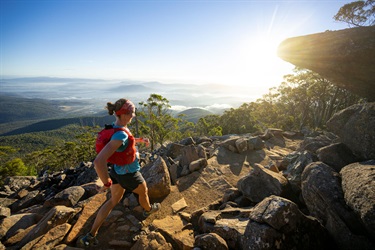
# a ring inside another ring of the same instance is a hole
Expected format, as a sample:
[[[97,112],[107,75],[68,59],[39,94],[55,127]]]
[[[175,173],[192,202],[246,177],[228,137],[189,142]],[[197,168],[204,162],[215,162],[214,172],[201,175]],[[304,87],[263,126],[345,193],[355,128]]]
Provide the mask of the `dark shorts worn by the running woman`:
[[[117,174],[114,168],[111,168],[109,176],[111,177],[113,184],[120,184],[122,188],[130,192],[133,192],[139,184],[142,184],[145,181],[139,171],[128,174]]]

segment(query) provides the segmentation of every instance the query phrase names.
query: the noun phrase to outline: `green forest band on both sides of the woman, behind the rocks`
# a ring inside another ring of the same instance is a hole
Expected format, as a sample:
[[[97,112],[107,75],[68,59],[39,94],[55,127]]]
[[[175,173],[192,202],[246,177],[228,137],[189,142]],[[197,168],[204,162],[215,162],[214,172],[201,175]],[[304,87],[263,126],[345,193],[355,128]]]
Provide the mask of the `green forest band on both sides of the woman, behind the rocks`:
[[[243,103],[222,115],[206,115],[196,123],[173,116],[169,100],[159,94],[138,103],[130,125],[136,136],[150,139],[153,151],[187,137],[260,134],[267,128],[284,131],[324,130],[332,115],[365,99],[341,89],[310,70],[295,68],[284,81],[255,102]],[[102,128],[71,124],[62,128],[0,137],[0,182],[7,176],[38,175],[42,170],[74,168],[95,158],[95,139]]]

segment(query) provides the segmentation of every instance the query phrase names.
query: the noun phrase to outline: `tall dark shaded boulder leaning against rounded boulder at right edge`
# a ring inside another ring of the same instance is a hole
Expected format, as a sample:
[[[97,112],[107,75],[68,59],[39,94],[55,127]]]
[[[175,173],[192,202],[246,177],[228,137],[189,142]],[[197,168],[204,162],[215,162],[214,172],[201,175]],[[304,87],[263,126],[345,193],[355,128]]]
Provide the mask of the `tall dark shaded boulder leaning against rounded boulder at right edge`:
[[[359,216],[345,203],[339,173],[323,162],[309,164],[302,173],[302,195],[310,215],[340,249],[373,249]]]

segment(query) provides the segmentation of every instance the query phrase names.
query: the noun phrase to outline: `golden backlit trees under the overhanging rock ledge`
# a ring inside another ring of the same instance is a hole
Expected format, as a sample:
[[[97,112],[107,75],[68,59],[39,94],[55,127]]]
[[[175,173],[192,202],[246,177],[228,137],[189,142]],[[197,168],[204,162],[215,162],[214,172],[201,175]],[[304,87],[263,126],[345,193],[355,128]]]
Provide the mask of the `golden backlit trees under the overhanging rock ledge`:
[[[254,133],[269,127],[301,130],[324,129],[339,110],[361,99],[310,70],[295,68],[277,88],[263,98],[226,111],[219,125],[223,134]],[[205,131],[207,132],[207,131]]]

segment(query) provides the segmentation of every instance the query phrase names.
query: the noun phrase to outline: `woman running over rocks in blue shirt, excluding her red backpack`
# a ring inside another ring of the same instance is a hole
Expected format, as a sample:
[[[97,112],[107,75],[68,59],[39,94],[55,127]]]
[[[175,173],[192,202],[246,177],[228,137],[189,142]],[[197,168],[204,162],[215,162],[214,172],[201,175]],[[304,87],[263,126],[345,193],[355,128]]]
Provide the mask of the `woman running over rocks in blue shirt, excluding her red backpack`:
[[[132,135],[127,128],[127,124],[129,124],[133,117],[135,117],[135,106],[129,100],[119,99],[115,102],[115,104],[110,102],[107,103],[107,109],[110,115],[115,114],[116,121],[114,122],[113,127],[123,128],[126,130],[126,132],[123,130],[115,132],[111,137],[111,140],[99,152],[94,160],[96,173],[104,183],[104,186],[101,187],[99,192],[111,188],[111,198],[99,209],[91,231],[78,238],[77,245],[80,247],[89,247],[98,244],[96,234],[112,209],[120,202],[125,190],[131,191],[139,196],[139,203],[144,209],[143,215],[145,217],[160,209],[159,203],[154,203],[152,205],[150,204],[147,194],[147,184],[140,173],[140,165],[137,157],[135,157],[135,160],[130,164],[114,164],[110,173],[108,173],[108,158],[114,152],[123,151],[128,146],[131,146],[128,144],[131,143],[130,139]],[[141,140],[135,138],[135,142],[146,142],[148,144],[149,141],[147,139],[144,141],[144,139]],[[135,151],[134,154],[136,154]]]

